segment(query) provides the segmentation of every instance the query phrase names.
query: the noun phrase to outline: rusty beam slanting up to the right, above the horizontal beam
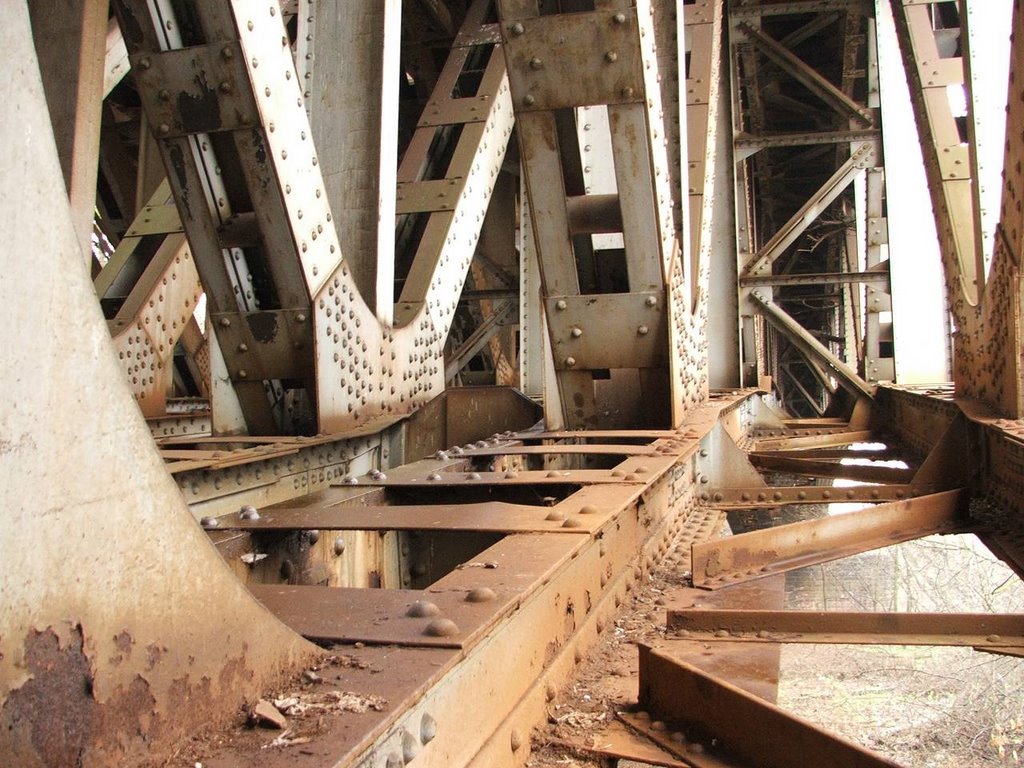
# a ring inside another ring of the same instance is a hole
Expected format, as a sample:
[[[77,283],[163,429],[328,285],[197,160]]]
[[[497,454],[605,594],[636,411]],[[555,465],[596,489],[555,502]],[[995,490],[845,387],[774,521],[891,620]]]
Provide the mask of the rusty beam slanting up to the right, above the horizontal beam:
[[[932,534],[963,530],[966,498],[963,490],[947,490],[695,544],[693,586],[719,589]]]

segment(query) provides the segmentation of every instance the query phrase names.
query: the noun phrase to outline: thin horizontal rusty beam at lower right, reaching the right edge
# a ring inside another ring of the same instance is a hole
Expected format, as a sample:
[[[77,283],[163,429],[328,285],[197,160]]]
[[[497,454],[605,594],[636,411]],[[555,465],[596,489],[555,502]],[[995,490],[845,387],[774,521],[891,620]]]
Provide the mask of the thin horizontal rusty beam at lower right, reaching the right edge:
[[[687,640],[887,645],[1024,645],[1024,614],[831,610],[670,610],[668,628]]]

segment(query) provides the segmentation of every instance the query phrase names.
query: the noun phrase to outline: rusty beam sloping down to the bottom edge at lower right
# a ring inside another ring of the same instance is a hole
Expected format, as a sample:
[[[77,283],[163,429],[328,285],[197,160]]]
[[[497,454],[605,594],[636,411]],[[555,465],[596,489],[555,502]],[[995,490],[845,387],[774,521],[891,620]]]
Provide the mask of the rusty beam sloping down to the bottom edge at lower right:
[[[723,758],[737,757],[762,768],[791,768],[808,760],[830,768],[898,768],[897,763],[647,645],[640,645],[640,707],[666,725],[681,727],[691,741],[714,742],[693,751],[694,765],[722,765]],[[699,762],[707,759],[706,752],[719,761]]]

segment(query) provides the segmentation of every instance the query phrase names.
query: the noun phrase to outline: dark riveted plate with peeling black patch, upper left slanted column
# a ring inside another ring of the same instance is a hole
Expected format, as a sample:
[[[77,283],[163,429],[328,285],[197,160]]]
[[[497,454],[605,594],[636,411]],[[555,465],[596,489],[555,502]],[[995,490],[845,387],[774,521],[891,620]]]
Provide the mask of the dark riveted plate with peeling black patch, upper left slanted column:
[[[157,138],[233,131],[259,123],[238,41],[135,54],[131,69]]]

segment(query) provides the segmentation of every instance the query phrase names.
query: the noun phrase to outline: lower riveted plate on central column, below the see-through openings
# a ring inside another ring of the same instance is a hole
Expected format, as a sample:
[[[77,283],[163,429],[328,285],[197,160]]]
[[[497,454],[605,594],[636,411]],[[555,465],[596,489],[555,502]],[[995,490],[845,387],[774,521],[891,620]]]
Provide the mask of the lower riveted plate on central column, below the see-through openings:
[[[559,371],[662,368],[669,324],[662,292],[553,296],[545,300]]]

